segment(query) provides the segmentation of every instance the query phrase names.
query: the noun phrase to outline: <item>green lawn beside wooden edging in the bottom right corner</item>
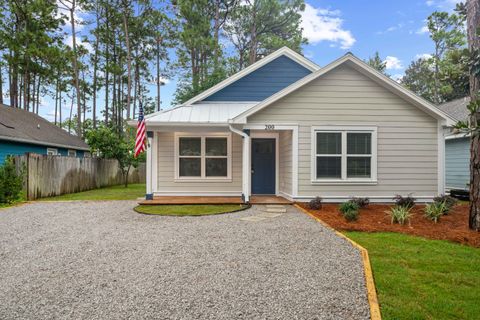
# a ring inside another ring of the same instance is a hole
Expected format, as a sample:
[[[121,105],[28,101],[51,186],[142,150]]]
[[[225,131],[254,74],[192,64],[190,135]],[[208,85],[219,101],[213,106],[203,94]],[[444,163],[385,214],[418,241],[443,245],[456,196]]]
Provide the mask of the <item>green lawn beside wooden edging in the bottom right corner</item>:
[[[480,249],[397,233],[345,234],[368,250],[383,319],[478,319]]]

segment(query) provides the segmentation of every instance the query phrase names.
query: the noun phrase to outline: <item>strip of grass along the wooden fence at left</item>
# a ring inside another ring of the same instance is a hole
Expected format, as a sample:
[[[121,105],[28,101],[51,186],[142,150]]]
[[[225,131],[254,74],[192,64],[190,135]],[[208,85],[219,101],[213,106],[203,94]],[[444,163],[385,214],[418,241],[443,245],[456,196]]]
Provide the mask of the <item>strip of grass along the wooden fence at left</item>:
[[[64,194],[57,197],[42,198],[39,201],[64,201],[64,200],[135,200],[145,196],[145,184],[129,184],[93,189],[78,193]]]

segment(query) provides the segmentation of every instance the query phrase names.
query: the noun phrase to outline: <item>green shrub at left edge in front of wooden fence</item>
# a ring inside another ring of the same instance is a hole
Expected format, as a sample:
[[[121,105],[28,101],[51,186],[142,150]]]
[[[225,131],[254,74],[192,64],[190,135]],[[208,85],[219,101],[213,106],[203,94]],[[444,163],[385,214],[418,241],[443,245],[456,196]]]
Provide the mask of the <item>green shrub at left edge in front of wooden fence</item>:
[[[20,200],[23,190],[23,172],[17,173],[11,158],[0,166],[0,203]]]

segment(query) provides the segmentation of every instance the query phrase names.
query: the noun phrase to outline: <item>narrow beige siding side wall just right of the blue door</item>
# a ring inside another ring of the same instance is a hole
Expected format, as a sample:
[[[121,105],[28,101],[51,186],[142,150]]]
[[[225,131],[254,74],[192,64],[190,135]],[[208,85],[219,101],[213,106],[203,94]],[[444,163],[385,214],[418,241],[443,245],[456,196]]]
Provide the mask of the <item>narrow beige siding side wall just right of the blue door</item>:
[[[292,131],[279,131],[279,191],[292,194]]]

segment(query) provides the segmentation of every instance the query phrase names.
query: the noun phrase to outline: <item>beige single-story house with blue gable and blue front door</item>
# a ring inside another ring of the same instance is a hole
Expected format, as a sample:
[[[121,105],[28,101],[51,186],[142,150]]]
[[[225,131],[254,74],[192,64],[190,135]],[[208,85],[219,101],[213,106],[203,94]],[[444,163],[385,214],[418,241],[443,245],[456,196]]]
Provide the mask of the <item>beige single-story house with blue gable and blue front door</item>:
[[[289,48],[145,121],[147,199],[245,202],[429,201],[444,192],[444,134],[455,123],[351,53],[321,68]]]

